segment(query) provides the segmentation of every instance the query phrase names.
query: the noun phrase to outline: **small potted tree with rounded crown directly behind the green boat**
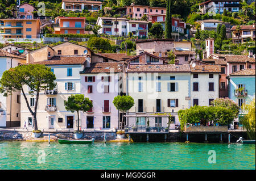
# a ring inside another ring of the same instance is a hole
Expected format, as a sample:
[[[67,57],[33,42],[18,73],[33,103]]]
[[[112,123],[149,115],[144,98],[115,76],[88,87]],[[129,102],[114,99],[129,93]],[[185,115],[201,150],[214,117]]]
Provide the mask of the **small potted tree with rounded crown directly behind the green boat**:
[[[64,100],[64,106],[67,111],[77,112],[77,131],[80,131],[79,129],[79,111],[89,111],[90,108],[93,107],[92,102],[89,100],[89,98],[85,98],[84,94],[76,94],[71,95],[68,97],[68,100]]]

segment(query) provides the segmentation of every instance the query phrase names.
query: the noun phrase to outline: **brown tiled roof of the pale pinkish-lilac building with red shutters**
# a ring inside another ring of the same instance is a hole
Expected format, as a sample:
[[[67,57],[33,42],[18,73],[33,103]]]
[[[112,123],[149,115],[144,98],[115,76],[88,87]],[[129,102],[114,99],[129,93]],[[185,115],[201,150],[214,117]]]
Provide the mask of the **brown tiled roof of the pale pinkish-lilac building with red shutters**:
[[[90,68],[85,68],[81,74],[86,73],[119,73],[122,72],[122,62],[104,62],[104,63],[92,63],[90,64]]]

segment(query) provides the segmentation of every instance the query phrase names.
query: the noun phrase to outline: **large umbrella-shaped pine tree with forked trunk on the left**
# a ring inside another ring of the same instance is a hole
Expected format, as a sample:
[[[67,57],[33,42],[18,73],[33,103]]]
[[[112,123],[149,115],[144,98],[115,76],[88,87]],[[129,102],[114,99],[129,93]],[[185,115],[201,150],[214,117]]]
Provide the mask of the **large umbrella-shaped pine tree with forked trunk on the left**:
[[[36,113],[38,109],[39,94],[46,89],[52,90],[56,83],[55,74],[52,73],[51,68],[45,65],[30,64],[19,65],[3,72],[0,80],[0,91],[5,96],[11,95],[13,91],[21,91],[27,104],[28,110],[33,117],[34,130],[38,129],[38,122]],[[35,96],[34,110],[30,107],[28,102],[26,87],[30,87],[28,94]],[[25,90],[24,90],[25,89]]]

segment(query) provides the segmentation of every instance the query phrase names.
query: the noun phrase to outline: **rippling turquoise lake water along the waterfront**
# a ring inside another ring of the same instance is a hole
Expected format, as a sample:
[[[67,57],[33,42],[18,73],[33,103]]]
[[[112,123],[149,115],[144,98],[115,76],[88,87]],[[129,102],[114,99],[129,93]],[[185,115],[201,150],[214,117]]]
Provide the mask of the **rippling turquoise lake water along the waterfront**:
[[[255,144],[0,142],[1,169],[255,169]]]

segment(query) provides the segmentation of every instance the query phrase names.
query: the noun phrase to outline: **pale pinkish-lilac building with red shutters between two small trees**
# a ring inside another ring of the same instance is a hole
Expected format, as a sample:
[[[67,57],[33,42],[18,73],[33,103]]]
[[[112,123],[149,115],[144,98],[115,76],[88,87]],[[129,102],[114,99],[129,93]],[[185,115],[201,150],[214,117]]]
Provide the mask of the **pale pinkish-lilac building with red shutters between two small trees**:
[[[119,112],[114,97],[122,90],[123,62],[94,62],[81,74],[81,93],[93,103],[93,108],[82,113],[82,129],[118,128]],[[120,88],[121,87],[121,88]]]

